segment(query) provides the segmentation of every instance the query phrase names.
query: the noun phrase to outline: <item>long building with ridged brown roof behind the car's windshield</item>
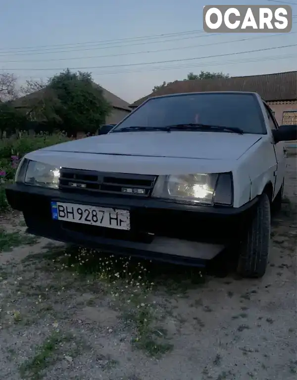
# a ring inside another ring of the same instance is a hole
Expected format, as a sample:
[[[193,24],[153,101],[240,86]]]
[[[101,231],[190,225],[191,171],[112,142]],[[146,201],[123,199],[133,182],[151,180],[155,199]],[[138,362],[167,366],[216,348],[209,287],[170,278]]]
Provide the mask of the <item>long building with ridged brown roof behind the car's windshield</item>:
[[[258,93],[273,110],[277,122],[297,124],[297,71],[275,74],[176,81],[134,103],[136,108],[152,96],[211,91],[248,91]]]

